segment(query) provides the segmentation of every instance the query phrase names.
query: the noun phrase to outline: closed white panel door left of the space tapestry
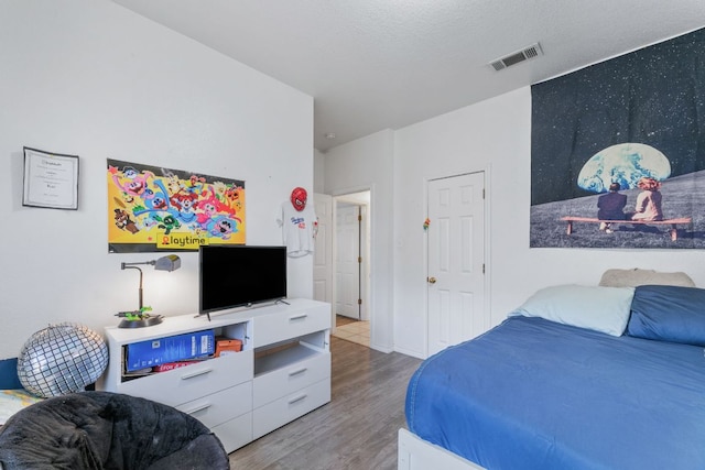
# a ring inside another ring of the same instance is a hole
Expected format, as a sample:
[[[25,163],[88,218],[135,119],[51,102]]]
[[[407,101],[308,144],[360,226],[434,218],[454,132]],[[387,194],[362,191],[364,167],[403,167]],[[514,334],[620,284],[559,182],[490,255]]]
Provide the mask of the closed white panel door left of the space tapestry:
[[[484,193],[481,172],[429,182],[429,356],[489,325]]]

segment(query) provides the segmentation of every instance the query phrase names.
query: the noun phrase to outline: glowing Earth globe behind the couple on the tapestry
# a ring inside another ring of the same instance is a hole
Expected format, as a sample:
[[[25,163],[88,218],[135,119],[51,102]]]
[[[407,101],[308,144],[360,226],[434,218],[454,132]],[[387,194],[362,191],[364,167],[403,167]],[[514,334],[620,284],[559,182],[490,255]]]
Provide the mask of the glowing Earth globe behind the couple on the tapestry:
[[[639,178],[663,181],[671,176],[671,163],[663,153],[642,143],[620,143],[600,150],[577,176],[577,185],[592,193],[607,193],[611,183],[634,188]]]

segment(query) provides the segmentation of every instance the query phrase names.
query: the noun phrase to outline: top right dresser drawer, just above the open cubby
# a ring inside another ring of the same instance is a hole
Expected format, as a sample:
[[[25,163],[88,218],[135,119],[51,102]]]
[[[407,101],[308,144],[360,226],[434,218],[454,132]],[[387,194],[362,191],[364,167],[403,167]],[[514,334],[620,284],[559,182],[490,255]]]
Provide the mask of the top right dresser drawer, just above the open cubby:
[[[330,328],[330,305],[322,304],[294,311],[253,318],[254,348]]]

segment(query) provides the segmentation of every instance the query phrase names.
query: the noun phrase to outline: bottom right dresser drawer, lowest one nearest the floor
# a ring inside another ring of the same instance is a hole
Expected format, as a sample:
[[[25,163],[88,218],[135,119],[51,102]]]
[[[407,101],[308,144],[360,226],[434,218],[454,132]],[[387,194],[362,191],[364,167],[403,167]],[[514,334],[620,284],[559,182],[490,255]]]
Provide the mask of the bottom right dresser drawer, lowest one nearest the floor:
[[[252,438],[258,439],[329,401],[330,381],[326,379],[262,407],[254,408],[252,412]]]

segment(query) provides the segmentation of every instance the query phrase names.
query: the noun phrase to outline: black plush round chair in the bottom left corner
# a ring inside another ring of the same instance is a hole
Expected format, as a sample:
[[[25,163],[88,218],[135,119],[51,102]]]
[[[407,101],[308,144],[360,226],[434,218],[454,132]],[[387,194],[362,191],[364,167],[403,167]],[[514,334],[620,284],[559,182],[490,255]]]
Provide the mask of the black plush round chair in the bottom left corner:
[[[228,455],[198,419],[109,392],[56,396],[0,428],[2,470],[228,470]]]

